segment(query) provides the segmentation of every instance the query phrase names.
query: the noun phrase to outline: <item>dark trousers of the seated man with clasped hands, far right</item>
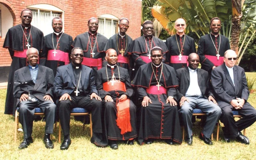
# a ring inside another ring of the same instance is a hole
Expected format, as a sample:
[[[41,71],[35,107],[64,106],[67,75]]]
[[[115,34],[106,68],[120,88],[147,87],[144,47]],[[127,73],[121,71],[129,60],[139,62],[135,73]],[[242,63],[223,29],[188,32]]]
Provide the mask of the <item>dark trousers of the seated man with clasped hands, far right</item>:
[[[243,118],[235,121],[232,110],[238,111]],[[220,122],[224,124],[225,129],[223,132],[229,138],[236,138],[238,131],[242,131],[256,121],[256,110],[248,102],[244,103],[241,109],[235,109],[233,106],[228,105],[221,108],[221,111]]]

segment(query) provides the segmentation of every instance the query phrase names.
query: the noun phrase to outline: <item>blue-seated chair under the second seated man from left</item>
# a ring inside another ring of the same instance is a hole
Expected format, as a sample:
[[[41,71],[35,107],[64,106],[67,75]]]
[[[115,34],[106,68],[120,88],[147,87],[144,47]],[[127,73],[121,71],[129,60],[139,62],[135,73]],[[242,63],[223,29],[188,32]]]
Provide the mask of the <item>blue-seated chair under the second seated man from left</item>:
[[[90,128],[91,128],[91,137],[92,137],[92,114],[90,114],[89,112],[87,112],[84,108],[73,108],[70,112],[70,116],[86,116],[86,115],[90,115]],[[84,123],[85,123],[85,117],[84,117]],[[83,124],[83,130],[85,124]],[[60,125],[60,120],[59,120],[59,143],[60,143],[60,138],[61,138],[61,125]]]

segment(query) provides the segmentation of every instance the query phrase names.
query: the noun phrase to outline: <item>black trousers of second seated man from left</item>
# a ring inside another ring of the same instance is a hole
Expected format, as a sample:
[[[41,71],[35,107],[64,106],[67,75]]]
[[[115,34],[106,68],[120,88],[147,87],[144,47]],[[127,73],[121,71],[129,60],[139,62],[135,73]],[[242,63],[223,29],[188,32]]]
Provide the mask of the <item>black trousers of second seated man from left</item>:
[[[71,96],[71,101],[61,100],[58,103],[60,124],[64,135],[69,134],[70,129],[70,112],[73,108],[85,108],[92,113],[92,132],[102,133],[101,113],[102,102],[90,96]]]

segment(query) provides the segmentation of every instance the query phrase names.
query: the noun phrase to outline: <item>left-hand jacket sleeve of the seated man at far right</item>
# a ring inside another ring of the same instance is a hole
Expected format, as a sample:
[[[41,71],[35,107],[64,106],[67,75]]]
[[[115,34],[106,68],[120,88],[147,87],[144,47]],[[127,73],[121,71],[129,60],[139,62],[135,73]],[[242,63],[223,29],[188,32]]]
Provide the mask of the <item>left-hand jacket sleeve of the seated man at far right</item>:
[[[212,70],[211,80],[212,80],[213,90],[216,92],[216,94],[219,96],[221,100],[223,100],[224,102],[230,103],[231,100],[233,99],[222,88],[223,77],[219,72],[220,71],[218,71],[218,69],[216,68]]]

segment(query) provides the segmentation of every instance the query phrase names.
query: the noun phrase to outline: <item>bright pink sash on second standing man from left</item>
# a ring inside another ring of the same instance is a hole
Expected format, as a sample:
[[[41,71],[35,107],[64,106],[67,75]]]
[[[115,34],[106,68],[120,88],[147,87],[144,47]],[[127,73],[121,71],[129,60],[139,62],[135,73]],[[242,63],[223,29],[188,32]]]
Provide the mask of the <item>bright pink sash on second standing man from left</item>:
[[[54,52],[54,50],[48,51],[47,60],[57,60],[57,61],[65,62],[65,65],[69,64],[69,57],[67,52],[56,50],[57,53],[55,54],[55,57],[54,57],[54,53],[52,52]]]

